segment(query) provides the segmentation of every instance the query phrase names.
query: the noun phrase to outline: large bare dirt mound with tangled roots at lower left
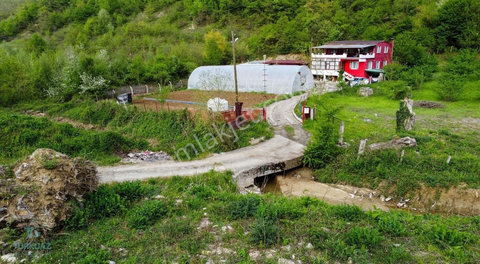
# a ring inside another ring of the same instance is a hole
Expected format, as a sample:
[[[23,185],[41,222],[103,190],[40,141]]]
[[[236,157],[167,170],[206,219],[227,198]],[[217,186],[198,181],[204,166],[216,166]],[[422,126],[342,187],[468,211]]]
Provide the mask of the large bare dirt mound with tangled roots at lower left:
[[[82,200],[99,184],[95,166],[51,149],[37,149],[15,169],[15,178],[0,180],[0,228],[52,229],[65,220],[69,200]]]

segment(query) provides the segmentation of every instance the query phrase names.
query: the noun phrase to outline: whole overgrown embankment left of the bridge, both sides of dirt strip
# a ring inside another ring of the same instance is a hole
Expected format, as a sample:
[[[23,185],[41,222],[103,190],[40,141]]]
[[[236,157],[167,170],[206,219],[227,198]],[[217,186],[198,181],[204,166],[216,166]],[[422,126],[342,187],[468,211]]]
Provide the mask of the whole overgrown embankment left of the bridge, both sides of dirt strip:
[[[252,137],[264,136],[268,139],[273,135],[263,120],[251,122],[247,129],[234,131],[219,117],[204,112],[192,114],[187,109],[145,112],[132,105],[123,108],[113,100],[95,102],[75,98],[66,103],[48,100],[16,105],[11,110],[40,111],[50,117],[63,117],[96,125],[104,131],[82,130],[47,118],[5,112],[7,118],[1,127],[5,128],[2,132],[8,140],[4,141],[8,147],[3,148],[5,151],[2,156],[9,159],[7,161],[27,156],[36,148],[51,148],[67,155],[86,156],[102,164],[118,162],[120,159],[115,154],[146,148],[166,151],[172,156],[178,153],[180,159],[196,158],[250,145]],[[32,131],[32,128],[38,131]],[[100,135],[107,134],[116,140],[111,143],[111,139],[99,142],[104,137]],[[84,137],[87,139],[84,140]],[[199,144],[202,145],[204,151],[187,147],[192,144],[197,149],[201,149]],[[178,152],[181,148],[185,148],[185,151]]]

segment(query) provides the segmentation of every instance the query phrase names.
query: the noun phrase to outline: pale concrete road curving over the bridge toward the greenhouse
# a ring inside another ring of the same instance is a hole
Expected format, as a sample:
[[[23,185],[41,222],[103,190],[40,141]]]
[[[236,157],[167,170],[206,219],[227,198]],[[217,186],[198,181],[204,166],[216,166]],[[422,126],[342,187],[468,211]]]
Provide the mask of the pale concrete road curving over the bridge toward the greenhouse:
[[[299,99],[300,96],[294,96],[268,106],[268,122],[274,126],[284,123],[294,123],[301,127],[301,122],[296,120],[292,114],[292,109]],[[285,120],[282,121],[282,119]],[[297,143],[277,134],[262,143],[221,154],[214,154],[213,156],[199,160],[143,162],[103,166],[97,169],[104,182],[144,180],[154,177],[171,177],[174,175],[190,176],[207,172],[211,169],[215,169],[216,171],[232,170],[236,173],[265,164],[298,158],[303,156],[304,148],[304,144]]]

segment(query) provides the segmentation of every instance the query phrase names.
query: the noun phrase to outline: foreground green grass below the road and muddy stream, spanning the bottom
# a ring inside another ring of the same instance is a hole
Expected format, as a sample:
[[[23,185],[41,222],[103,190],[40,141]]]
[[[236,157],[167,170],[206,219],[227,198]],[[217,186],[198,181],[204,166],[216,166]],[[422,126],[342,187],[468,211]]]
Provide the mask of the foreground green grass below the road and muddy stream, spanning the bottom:
[[[231,172],[210,171],[191,178],[151,179],[140,186],[122,183],[101,189],[114,193],[123,190],[121,195],[127,199],[122,200],[127,201],[125,211],[102,217],[109,208],[102,206],[114,204],[99,205],[98,210],[103,211],[89,216],[85,225],[51,235],[51,250],[42,251],[48,254],[36,263],[111,260],[119,264],[189,264],[205,263],[208,259],[254,263],[248,256],[250,250],[260,251],[262,256],[256,263],[266,264],[277,263],[280,257],[291,259],[292,254],[303,263],[315,264],[346,263],[349,258],[354,263],[372,264],[474,263],[480,253],[478,216],[411,215],[373,208],[364,212],[357,206],[328,205],[309,197],[242,195],[237,193]],[[100,204],[105,195],[87,195],[87,208],[79,210],[87,210],[92,203]],[[165,198],[155,202],[156,195]],[[136,220],[139,214],[146,216],[150,212],[145,208],[151,204],[161,206],[162,213],[148,222]],[[198,228],[205,217],[210,225]],[[142,223],[141,228],[131,227],[138,223]],[[222,231],[227,225],[233,229]],[[3,234],[1,240],[6,242],[18,239],[11,229]],[[303,246],[299,246],[300,242]],[[312,248],[306,248],[308,243],[312,243]],[[290,251],[281,248],[287,245]],[[231,253],[217,255],[216,249],[222,248]],[[270,249],[276,253],[267,259],[264,250]]]

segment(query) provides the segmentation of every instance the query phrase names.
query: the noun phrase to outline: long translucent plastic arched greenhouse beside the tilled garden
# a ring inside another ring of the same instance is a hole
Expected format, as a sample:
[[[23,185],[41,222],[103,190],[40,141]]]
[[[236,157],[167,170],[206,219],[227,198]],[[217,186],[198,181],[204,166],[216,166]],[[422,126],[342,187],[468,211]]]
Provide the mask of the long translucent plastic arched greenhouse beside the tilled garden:
[[[307,66],[243,63],[237,65],[239,92],[293,94],[312,89],[315,84]],[[233,65],[202,66],[188,79],[188,89],[234,91]]]

